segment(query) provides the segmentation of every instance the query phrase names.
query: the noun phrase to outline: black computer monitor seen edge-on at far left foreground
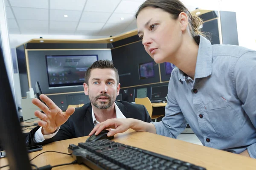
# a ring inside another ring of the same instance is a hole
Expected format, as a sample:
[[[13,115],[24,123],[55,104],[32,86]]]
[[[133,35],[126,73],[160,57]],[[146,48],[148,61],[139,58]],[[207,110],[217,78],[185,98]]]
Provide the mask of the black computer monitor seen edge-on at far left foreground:
[[[0,42],[1,42],[0,34]],[[0,44],[0,141],[11,170],[31,170]],[[3,165],[1,165],[3,166]]]

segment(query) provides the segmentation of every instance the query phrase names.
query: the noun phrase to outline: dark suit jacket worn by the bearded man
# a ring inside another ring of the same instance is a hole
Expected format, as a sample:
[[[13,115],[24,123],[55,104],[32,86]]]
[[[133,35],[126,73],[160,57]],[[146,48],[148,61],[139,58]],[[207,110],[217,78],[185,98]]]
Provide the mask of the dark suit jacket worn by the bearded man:
[[[116,101],[116,105],[126,118],[134,118],[144,122],[151,122],[151,118],[144,105],[131,104],[125,101]],[[75,112],[70,116],[67,122],[61,125],[60,130],[54,137],[44,140],[44,142],[35,143],[33,139],[35,132],[39,127],[40,126],[37,126],[32,129],[26,137],[27,146],[47,144],[65,139],[88,136],[94,127],[91,103],[87,103],[81,108],[76,108]]]

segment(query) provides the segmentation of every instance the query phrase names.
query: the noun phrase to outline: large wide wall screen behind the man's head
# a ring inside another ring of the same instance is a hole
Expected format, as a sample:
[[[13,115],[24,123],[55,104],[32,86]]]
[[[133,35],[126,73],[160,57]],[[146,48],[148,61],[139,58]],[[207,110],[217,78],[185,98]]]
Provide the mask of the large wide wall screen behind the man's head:
[[[87,68],[98,55],[46,56],[49,88],[83,85]]]

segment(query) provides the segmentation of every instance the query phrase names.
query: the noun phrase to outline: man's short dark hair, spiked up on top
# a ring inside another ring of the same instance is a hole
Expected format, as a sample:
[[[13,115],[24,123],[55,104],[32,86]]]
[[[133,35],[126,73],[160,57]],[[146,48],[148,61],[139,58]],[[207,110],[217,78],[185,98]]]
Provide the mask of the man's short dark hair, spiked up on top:
[[[92,69],[94,68],[100,68],[100,69],[104,69],[104,68],[111,68],[115,71],[116,73],[116,82],[117,82],[117,86],[119,85],[119,74],[117,69],[114,67],[113,61],[105,59],[105,60],[99,60],[96,62],[93,62],[93,64],[87,69],[85,76],[84,76],[84,82],[88,84],[89,78],[90,78],[90,72]]]

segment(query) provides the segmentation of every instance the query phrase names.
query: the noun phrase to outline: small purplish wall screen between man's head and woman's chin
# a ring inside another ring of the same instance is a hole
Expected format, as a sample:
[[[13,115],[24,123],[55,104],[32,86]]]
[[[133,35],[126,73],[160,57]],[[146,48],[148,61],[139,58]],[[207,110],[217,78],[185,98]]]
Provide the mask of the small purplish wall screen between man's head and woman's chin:
[[[154,62],[139,64],[140,79],[154,77]]]

